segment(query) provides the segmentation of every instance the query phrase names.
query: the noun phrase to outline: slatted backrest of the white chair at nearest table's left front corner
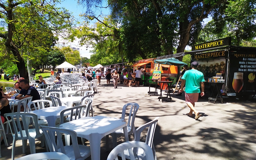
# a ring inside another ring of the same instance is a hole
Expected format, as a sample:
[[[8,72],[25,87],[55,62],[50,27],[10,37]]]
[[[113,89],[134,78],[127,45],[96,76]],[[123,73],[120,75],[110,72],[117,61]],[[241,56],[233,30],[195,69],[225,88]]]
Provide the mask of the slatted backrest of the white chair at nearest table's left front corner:
[[[81,158],[81,154],[78,147],[77,135],[75,131],[56,128],[56,127],[47,127],[47,126],[41,126],[41,127],[44,132],[44,136],[47,141],[47,145],[49,147],[50,152],[59,152],[58,150],[60,149],[61,153],[66,154],[66,150],[62,141],[62,134],[64,133],[64,134],[70,135],[72,139],[72,147],[73,147],[72,152],[74,152],[75,159]],[[57,136],[57,142],[55,141],[55,132]]]

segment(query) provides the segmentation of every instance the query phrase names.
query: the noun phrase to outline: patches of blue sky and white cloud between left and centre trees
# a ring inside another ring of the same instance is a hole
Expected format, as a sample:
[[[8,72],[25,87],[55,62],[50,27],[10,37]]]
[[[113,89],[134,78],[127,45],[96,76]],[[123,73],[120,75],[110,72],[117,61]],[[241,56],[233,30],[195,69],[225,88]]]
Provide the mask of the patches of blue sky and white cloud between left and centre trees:
[[[85,11],[85,9],[83,8],[82,5],[77,4],[76,0],[66,0],[64,2],[61,2],[61,4],[58,4],[57,6],[66,8],[69,12],[73,12],[72,15],[78,20],[81,20],[81,18],[79,17],[79,14],[83,13]],[[104,9],[103,13],[108,14],[109,13],[108,9]],[[70,45],[71,47],[79,48],[80,56],[82,56],[82,57],[90,58],[90,56],[92,54],[92,53],[90,53],[92,48],[86,48],[85,46],[79,46],[78,40],[75,42],[69,42],[66,40],[62,40],[60,38],[59,42],[60,43],[64,42],[66,45]]]

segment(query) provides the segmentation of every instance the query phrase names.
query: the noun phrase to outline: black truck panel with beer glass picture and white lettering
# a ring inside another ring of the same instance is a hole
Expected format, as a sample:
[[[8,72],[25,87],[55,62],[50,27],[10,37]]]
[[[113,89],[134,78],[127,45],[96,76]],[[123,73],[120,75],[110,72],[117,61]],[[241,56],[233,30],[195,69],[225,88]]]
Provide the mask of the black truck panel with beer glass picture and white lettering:
[[[231,52],[228,88],[237,94],[255,92],[256,52]]]

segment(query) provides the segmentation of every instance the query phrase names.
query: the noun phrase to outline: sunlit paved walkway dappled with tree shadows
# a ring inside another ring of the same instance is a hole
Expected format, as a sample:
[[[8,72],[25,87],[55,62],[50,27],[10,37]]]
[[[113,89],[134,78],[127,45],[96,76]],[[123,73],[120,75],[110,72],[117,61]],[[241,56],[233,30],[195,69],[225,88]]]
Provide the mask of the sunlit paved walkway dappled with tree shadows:
[[[112,82],[112,81],[111,81]],[[172,102],[158,101],[157,96],[148,95],[148,87],[126,87],[113,83],[106,85],[102,79],[95,95],[95,115],[121,117],[122,107],[129,102],[140,105],[135,126],[159,116],[155,132],[155,148],[158,160],[252,160],[256,159],[256,105],[249,101],[224,100],[224,104],[212,104],[203,99],[196,102],[196,109],[203,114],[199,120],[186,116],[189,109],[182,96],[172,95]],[[1,159],[11,158],[12,137],[9,134],[8,149],[1,146]],[[145,136],[143,136],[145,138]],[[133,139],[133,137],[132,137]],[[105,138],[101,141],[101,159],[107,159],[112,149]],[[118,138],[119,143],[124,141]],[[36,152],[44,152],[40,141],[36,141]],[[16,155],[22,156],[21,142],[16,143]],[[29,154],[29,146],[27,147]],[[18,156],[16,156],[17,158]]]

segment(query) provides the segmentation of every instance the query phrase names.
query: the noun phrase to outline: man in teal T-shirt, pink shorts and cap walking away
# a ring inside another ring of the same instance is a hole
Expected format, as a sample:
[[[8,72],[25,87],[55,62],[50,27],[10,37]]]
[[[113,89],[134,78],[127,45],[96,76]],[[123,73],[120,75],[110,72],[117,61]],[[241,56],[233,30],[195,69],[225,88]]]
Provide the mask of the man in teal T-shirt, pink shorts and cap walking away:
[[[193,112],[195,113],[195,119],[197,120],[202,114],[200,114],[195,109],[195,102],[198,100],[198,93],[200,93],[201,86],[201,97],[204,96],[204,75],[202,72],[198,71],[199,64],[197,62],[191,63],[191,70],[187,70],[184,75],[181,77],[181,88],[180,93],[183,92],[183,87],[186,84],[185,88],[185,99],[188,107],[190,108],[190,112],[187,113],[189,117],[193,116]]]

